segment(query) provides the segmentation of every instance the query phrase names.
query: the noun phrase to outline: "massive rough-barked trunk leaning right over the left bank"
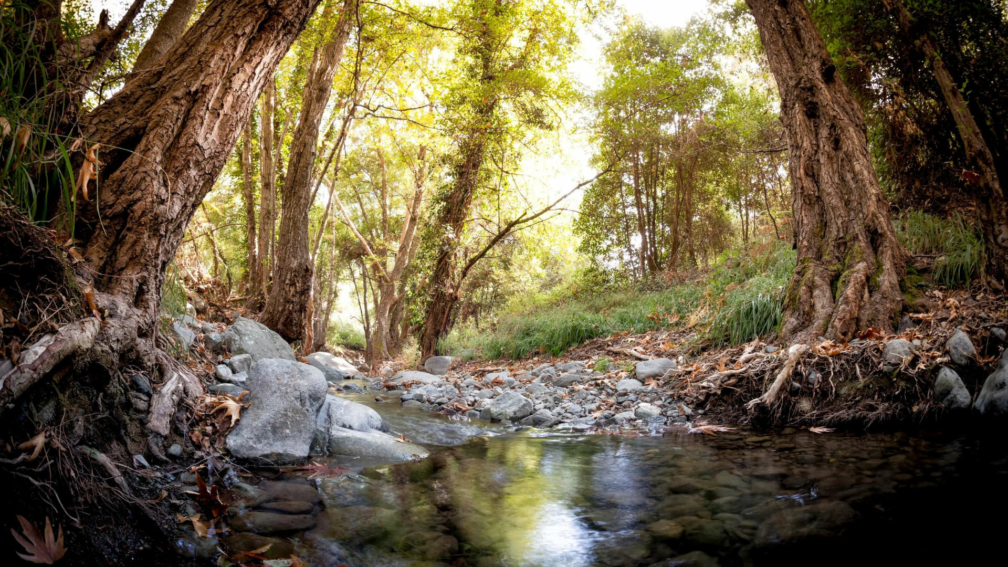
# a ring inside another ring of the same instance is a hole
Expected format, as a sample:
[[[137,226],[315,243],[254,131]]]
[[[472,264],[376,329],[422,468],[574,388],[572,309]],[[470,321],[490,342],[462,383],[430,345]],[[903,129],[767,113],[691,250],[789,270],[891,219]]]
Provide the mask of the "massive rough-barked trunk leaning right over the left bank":
[[[109,148],[100,216],[95,207],[81,215],[84,256],[95,287],[140,310],[148,332],[186,224],[318,2],[216,0],[163,68],[84,118],[85,139]]]

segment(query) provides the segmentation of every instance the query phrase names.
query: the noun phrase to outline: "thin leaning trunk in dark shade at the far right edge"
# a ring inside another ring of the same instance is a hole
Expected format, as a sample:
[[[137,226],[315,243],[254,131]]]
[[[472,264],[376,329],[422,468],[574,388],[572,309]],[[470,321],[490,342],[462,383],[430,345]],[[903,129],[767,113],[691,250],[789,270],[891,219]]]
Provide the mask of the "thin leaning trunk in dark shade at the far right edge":
[[[949,68],[938,53],[937,46],[926,30],[914,33],[913,18],[902,0],[885,0],[896,14],[900,27],[920,46],[924,58],[931,64],[934,79],[937,80],[946,105],[952,112],[959,129],[963,148],[966,150],[967,164],[973,175],[965,175],[968,183],[977,186],[974,195],[980,212],[980,227],[987,247],[987,272],[995,279],[1008,277],[1008,204],[1005,203],[1004,188],[998,178],[994,154],[984,140],[963,92],[952,77]],[[1003,287],[1003,282],[1000,284]]]

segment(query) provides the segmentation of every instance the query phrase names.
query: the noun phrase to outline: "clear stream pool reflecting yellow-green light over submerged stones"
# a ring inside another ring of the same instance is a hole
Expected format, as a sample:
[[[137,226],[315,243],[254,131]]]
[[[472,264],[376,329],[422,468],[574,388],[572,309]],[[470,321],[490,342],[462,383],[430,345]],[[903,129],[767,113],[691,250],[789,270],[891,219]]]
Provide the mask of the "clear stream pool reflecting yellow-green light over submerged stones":
[[[513,432],[355,400],[432,454],[341,463],[312,564],[976,564],[1006,528],[998,439]]]

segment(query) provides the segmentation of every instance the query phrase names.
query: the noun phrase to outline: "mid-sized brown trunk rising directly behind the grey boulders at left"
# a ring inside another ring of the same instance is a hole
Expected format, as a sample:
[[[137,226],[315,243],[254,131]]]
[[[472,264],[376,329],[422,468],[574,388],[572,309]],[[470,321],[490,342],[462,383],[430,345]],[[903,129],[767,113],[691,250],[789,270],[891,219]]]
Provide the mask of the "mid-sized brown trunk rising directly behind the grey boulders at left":
[[[316,49],[304,82],[301,112],[294,130],[287,167],[289,179],[281,195],[280,237],[276,244],[275,280],[260,321],[287,340],[304,337],[305,314],[311,297],[311,256],[308,252],[308,212],[311,182],[322,123],[333,78],[356,19],[357,0],[346,0],[333,37]]]

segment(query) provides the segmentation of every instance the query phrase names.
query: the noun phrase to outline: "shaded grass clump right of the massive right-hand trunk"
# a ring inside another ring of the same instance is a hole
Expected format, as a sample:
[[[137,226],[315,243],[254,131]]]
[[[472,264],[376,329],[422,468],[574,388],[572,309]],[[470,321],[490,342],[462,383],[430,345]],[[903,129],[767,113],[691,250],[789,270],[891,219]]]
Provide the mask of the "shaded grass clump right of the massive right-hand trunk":
[[[984,273],[984,241],[959,213],[948,219],[909,211],[894,221],[896,235],[912,254],[934,255],[931,275],[946,288],[969,288]]]

